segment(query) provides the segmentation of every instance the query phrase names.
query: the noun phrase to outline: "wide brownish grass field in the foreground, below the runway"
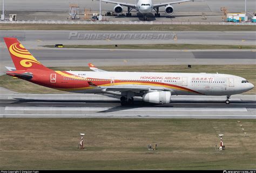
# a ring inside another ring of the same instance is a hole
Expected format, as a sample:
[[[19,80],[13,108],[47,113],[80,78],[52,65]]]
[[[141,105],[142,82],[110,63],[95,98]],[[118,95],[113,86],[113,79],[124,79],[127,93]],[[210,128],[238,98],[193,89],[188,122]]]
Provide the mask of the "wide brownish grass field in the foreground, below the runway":
[[[255,169],[256,120],[240,121],[247,137],[237,120],[1,119],[0,169]]]

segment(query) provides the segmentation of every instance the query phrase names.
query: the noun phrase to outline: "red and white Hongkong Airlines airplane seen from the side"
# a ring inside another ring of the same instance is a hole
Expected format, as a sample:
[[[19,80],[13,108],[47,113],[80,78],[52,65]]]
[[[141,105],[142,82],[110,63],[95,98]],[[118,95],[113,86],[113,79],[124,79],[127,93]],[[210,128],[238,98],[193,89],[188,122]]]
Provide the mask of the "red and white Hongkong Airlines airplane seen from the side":
[[[92,71],[55,71],[45,67],[16,38],[4,38],[15,67],[6,74],[41,86],[73,93],[120,96],[121,105],[132,105],[133,97],[165,104],[172,95],[225,95],[250,91],[254,85],[230,74],[110,72],[89,63]]]

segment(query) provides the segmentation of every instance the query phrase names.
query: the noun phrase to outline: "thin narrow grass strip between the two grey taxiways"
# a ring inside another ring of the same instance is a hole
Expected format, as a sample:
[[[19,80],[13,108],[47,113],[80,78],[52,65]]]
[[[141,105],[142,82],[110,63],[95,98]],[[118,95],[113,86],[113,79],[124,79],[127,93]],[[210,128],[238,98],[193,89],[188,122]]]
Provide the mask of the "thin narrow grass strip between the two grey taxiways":
[[[55,45],[45,45],[44,47],[55,47]],[[256,49],[255,45],[207,45],[207,44],[133,44],[133,45],[63,45],[64,48],[95,48],[95,49]]]

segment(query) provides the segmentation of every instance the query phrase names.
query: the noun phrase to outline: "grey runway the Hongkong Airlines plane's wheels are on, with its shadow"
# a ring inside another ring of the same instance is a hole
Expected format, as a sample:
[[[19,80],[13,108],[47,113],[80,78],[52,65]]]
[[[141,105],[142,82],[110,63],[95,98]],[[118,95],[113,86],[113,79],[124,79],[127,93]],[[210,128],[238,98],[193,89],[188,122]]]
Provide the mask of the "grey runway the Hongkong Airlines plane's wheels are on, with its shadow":
[[[256,119],[256,96],[172,96],[166,105],[134,99],[133,106],[120,106],[115,96],[95,94],[1,94],[0,117],[110,117],[179,119]]]

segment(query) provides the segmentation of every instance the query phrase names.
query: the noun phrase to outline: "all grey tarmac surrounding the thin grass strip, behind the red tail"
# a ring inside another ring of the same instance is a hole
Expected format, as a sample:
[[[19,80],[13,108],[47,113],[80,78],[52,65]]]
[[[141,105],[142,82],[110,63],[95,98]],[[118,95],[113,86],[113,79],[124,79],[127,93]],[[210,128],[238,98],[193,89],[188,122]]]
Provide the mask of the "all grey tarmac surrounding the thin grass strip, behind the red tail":
[[[70,37],[77,32],[77,37]],[[114,31],[116,34],[176,34],[169,39],[81,39],[79,34],[107,34],[113,31],[0,31],[0,74],[4,66],[13,66],[3,37],[16,37],[41,63],[56,66],[132,66],[187,64],[255,64],[255,50],[114,50],[114,49],[50,49],[55,44],[237,44],[255,45],[255,31]],[[149,53],[150,52],[150,53]]]

